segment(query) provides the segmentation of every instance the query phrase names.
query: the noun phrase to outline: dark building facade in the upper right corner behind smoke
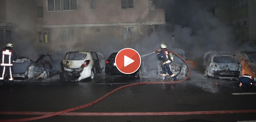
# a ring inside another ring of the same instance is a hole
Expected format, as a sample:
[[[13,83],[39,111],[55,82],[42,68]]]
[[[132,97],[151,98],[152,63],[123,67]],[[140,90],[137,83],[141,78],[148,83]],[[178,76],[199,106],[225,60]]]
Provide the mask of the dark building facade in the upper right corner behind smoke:
[[[215,16],[238,30],[240,43],[256,40],[256,0],[217,0]]]

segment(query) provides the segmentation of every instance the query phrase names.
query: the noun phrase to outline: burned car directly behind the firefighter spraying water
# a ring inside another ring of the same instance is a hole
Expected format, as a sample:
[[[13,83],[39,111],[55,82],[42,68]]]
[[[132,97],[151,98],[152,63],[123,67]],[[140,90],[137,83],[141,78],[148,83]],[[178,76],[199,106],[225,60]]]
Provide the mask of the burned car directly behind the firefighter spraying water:
[[[184,55],[181,53],[177,53],[179,56],[181,56],[183,59],[186,59]],[[171,71],[177,76],[177,77],[187,77],[188,76],[188,66],[186,63],[180,59],[178,56],[174,55],[174,61],[171,63]],[[162,75],[162,67],[163,63],[162,61],[159,61],[159,64],[157,65],[157,74]],[[168,75],[168,73],[166,73]]]

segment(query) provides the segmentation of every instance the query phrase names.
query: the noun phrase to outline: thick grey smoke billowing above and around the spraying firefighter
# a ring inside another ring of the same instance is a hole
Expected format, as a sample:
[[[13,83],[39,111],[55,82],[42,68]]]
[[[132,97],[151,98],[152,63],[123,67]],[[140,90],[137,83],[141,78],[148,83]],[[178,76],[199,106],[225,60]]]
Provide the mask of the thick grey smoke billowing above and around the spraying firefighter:
[[[206,51],[238,49],[233,26],[211,12],[214,6],[218,6],[214,0],[156,0],[155,4],[157,8],[165,9],[167,23],[135,45],[134,48],[142,55],[160,48],[161,43],[166,43],[168,49],[186,55],[192,61]],[[145,58],[151,69],[157,68],[159,61],[156,55]]]

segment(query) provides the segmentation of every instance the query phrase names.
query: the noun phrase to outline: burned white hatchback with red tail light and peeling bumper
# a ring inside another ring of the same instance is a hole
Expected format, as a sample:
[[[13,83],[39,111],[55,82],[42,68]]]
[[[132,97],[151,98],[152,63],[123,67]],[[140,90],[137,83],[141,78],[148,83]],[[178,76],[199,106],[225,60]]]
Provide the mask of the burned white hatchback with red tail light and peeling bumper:
[[[105,58],[96,51],[67,52],[60,62],[60,79],[90,78],[105,71]]]

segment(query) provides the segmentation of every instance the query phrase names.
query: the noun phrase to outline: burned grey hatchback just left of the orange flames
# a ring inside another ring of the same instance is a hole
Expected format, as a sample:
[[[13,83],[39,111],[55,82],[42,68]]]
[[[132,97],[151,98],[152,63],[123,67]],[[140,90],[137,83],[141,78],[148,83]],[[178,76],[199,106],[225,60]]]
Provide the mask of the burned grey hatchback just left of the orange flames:
[[[206,78],[234,79],[242,75],[242,66],[237,57],[229,52],[211,51],[204,53],[201,67]]]

